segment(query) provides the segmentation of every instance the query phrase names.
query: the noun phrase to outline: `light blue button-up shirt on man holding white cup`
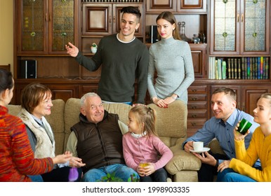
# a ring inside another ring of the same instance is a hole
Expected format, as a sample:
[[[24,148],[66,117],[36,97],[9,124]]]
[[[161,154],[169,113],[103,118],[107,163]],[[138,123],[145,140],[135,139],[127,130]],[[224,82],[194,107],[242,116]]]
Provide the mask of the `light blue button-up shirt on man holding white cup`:
[[[204,127],[198,130],[196,134],[187,138],[183,143],[183,146],[187,141],[204,141],[204,146],[207,146],[210,141],[216,138],[227,157],[229,159],[236,158],[233,130],[239,120],[242,120],[242,118],[245,118],[252,123],[252,126],[249,129],[250,133],[245,137],[245,146],[248,148],[252,133],[256,127],[259,127],[260,125],[253,121],[253,116],[245,113],[244,111],[239,111],[239,109],[234,110],[230,118],[227,119],[226,123],[224,123],[221,119],[212,117],[210,120],[204,123]],[[219,163],[220,162],[221,161],[219,161]]]

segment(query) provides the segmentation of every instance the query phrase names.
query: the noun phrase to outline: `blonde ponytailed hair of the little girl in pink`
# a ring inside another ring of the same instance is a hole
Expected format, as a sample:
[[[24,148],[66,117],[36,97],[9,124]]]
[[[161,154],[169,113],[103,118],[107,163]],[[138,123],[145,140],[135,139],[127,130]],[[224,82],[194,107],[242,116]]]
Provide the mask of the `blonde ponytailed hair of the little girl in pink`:
[[[142,125],[144,123],[144,127],[140,126],[140,132],[147,132],[147,135],[150,136],[154,134],[158,137],[158,134],[155,130],[155,122],[156,122],[156,111],[146,106],[134,106],[130,110],[131,113],[135,116],[136,123]]]

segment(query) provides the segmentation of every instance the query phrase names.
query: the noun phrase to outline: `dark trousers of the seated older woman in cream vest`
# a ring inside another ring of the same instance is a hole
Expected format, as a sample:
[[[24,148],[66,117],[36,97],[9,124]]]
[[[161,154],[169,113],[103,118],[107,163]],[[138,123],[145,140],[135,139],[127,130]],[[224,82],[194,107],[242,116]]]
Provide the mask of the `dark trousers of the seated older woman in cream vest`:
[[[69,182],[70,168],[71,167],[55,168],[51,172],[41,174],[41,177],[44,179],[44,182]],[[78,179],[76,182],[79,182],[81,181],[82,169],[77,168],[77,171]]]

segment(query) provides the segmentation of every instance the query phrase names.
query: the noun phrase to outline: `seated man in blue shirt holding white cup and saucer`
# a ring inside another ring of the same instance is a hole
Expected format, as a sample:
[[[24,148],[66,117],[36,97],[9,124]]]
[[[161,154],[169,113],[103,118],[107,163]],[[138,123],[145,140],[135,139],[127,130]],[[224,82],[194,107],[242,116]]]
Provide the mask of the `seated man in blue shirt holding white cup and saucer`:
[[[217,174],[218,165],[223,160],[235,158],[234,149],[234,127],[239,120],[245,118],[252,123],[249,129],[250,133],[245,137],[246,148],[249,147],[251,136],[258,123],[253,121],[253,116],[240,111],[236,108],[236,93],[227,87],[216,89],[211,97],[211,109],[214,116],[206,121],[204,127],[197,131],[192,137],[189,137],[183,143],[183,149],[190,153],[193,150],[193,141],[204,141],[204,146],[208,145],[213,139],[217,139],[225,155],[214,154],[211,151],[204,153],[193,153],[201,160],[201,168],[198,172],[200,182],[213,181],[213,176]],[[260,165],[259,163],[257,165]]]

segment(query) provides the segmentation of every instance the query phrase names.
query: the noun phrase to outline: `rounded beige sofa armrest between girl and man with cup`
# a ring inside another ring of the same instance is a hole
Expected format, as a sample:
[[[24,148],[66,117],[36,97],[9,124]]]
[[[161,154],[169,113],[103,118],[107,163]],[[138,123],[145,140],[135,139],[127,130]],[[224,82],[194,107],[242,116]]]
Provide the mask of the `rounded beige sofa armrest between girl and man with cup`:
[[[192,153],[187,153],[181,149],[181,145],[171,147],[173,158],[166,165],[166,171],[169,174],[176,174],[182,170],[197,171],[201,167],[201,161]]]

